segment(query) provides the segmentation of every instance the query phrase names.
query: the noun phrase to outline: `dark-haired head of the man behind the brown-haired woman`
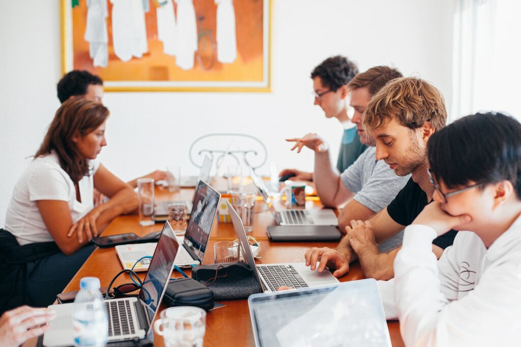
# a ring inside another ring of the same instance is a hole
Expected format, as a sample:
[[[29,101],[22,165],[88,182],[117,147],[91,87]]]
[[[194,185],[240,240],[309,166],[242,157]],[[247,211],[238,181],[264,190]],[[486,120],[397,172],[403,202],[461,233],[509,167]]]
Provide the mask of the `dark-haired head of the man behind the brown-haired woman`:
[[[65,74],[58,82],[57,90],[58,99],[62,103],[75,96],[100,102],[103,99],[102,79],[85,70],[72,70]]]

